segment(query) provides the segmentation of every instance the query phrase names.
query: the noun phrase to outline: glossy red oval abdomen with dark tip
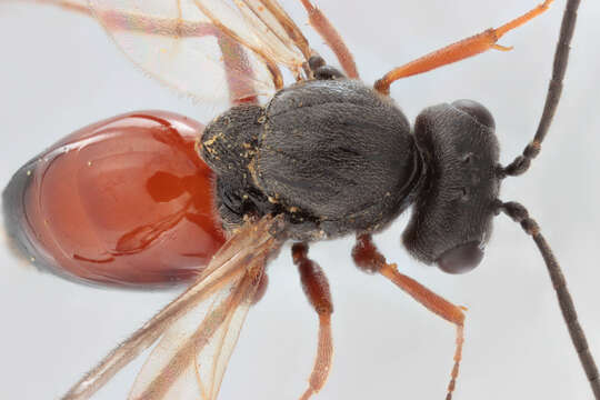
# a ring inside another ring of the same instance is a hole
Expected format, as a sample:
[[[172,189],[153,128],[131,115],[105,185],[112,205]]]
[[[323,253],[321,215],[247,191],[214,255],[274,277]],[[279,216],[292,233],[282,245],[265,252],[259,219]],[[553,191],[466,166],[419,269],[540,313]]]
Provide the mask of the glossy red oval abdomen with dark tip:
[[[86,127],[32,159],[3,192],[4,220],[37,266],[67,278],[157,287],[193,278],[224,241],[203,126],[162,111]]]

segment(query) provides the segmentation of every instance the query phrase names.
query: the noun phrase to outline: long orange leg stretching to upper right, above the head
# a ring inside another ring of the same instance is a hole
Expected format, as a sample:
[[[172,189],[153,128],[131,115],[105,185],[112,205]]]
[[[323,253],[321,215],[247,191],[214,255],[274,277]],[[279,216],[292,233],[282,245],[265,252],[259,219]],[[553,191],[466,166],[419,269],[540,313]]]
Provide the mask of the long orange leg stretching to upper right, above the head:
[[[427,72],[432,69],[477,56],[489,49],[502,51],[510,50],[511,48],[497,44],[496,42],[498,41],[498,39],[500,39],[508,31],[522,26],[527,21],[548,10],[552,1],[553,0],[546,0],[543,3],[539,4],[531,11],[522,14],[519,18],[513,19],[508,23],[504,23],[498,29],[488,29],[487,31],[483,31],[479,34],[472,36],[470,38],[447,46],[442,49],[430,52],[429,54],[423,56],[407,64],[403,64],[402,67],[398,67],[386,73],[383,78],[378,80],[374,83],[374,89],[380,93],[389,94],[390,84],[398,79]]]

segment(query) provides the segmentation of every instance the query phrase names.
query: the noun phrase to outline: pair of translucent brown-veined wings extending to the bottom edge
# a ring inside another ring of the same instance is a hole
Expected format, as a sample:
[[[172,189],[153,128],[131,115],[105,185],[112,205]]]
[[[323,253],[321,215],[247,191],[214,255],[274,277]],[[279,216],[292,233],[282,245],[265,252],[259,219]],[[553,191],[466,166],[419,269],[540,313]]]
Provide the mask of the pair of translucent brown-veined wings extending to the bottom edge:
[[[214,399],[269,258],[282,244],[281,217],[247,223],[198,281],[111,351],[64,397],[88,399],[162,336],[130,399]]]

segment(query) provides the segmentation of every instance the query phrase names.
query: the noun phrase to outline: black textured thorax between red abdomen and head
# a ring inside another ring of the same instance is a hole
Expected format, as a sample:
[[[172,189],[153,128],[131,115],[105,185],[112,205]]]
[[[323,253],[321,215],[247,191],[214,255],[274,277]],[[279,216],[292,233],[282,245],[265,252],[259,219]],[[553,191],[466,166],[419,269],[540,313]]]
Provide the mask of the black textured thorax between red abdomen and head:
[[[420,174],[406,117],[352,80],[302,82],[264,108],[233,108],[202,143],[226,224],[252,207],[284,212],[299,239],[379,229],[406,208]]]

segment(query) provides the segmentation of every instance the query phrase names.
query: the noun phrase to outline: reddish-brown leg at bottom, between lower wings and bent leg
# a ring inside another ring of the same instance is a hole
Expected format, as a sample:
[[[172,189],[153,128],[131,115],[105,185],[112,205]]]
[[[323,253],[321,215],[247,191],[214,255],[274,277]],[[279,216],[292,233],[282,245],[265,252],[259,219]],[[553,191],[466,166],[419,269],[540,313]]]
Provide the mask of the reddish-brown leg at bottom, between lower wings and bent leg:
[[[296,243],[292,247],[293,263],[298,266],[302,289],[319,316],[319,347],[317,359],[309,378],[309,387],[300,398],[309,399],[322,389],[331,368],[333,344],[331,340],[331,313],[333,304],[329,293],[329,282],[319,264],[308,258],[308,246]]]

